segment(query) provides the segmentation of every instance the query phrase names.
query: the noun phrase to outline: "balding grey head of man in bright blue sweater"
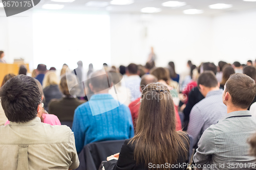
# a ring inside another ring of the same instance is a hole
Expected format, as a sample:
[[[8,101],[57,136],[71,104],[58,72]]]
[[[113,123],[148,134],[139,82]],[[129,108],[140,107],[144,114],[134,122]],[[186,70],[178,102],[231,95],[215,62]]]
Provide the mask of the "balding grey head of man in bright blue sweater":
[[[109,89],[112,85],[111,75],[103,70],[93,72],[89,80],[89,86],[94,93]]]

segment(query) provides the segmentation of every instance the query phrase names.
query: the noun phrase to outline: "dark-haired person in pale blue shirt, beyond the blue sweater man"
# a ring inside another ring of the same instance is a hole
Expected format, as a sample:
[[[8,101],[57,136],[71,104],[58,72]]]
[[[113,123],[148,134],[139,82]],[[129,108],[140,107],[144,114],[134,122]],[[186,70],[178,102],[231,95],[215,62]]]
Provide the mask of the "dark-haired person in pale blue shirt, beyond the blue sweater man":
[[[140,81],[138,66],[134,63],[129,64],[126,69],[126,76],[124,78],[125,86],[130,89],[132,95],[132,101],[138,99],[141,95]]]

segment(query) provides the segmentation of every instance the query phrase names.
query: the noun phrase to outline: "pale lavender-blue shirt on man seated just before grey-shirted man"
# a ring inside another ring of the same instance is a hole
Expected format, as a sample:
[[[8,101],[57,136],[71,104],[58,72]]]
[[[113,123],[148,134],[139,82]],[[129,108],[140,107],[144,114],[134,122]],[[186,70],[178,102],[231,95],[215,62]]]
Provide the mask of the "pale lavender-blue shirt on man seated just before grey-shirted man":
[[[195,148],[205,129],[217,124],[227,114],[227,107],[222,102],[222,92],[222,89],[209,91],[191,110],[187,134],[193,137]]]

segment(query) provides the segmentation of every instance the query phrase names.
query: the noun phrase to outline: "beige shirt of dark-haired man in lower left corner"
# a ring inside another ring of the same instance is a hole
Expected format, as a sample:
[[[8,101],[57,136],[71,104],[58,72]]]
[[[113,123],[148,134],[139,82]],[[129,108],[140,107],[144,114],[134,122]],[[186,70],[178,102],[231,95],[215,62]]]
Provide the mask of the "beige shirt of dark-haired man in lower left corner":
[[[75,169],[79,165],[74,133],[67,126],[27,123],[0,126],[0,169]]]

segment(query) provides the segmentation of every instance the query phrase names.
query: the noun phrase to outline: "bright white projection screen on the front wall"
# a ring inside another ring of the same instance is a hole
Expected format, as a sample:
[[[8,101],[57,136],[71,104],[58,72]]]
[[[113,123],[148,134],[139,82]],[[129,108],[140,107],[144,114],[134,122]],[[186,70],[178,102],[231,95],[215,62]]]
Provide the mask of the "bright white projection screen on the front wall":
[[[33,13],[34,68],[43,63],[47,68],[61,69],[67,63],[71,69],[77,61],[95,69],[111,63],[110,17],[108,13]]]

